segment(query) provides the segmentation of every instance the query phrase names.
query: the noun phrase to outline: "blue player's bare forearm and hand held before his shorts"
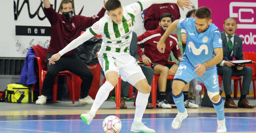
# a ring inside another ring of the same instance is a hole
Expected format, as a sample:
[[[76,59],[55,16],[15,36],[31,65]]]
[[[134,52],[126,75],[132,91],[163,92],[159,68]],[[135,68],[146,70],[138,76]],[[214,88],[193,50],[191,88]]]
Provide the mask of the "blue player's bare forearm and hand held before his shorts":
[[[197,76],[202,76],[204,72],[206,71],[207,68],[210,68],[219,62],[222,61],[223,58],[223,49],[222,48],[215,48],[215,57],[212,59],[208,60],[207,62],[204,62],[203,64],[197,64],[194,67],[196,68],[194,73],[197,72]]]

